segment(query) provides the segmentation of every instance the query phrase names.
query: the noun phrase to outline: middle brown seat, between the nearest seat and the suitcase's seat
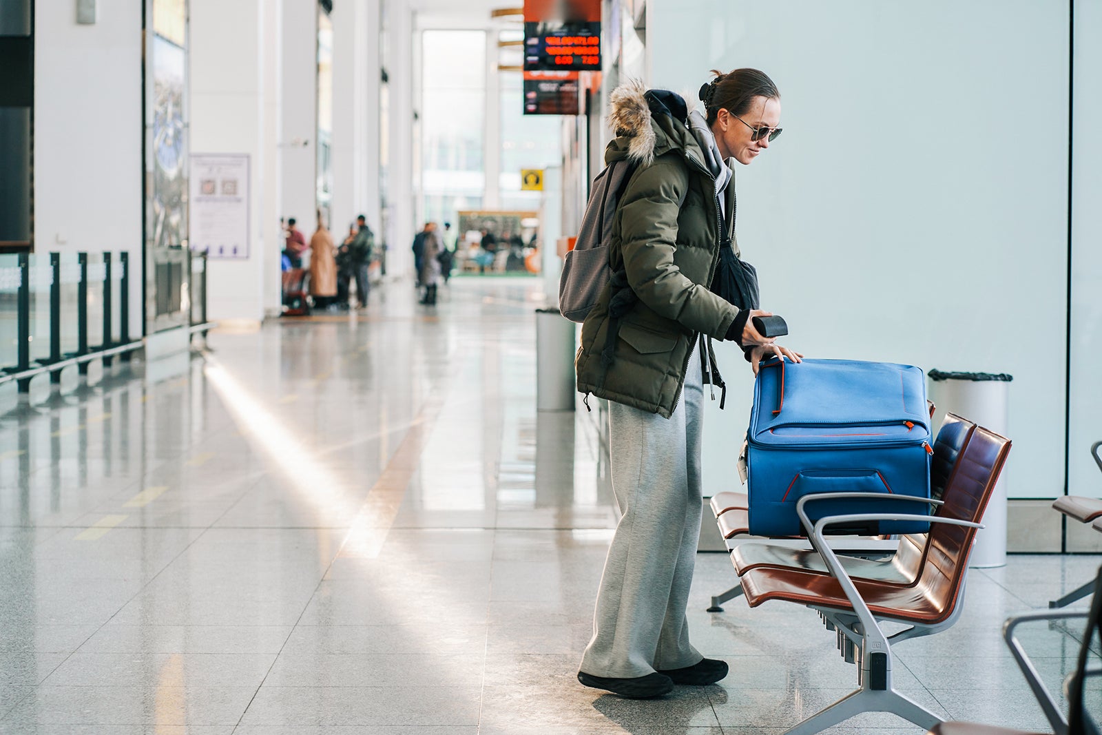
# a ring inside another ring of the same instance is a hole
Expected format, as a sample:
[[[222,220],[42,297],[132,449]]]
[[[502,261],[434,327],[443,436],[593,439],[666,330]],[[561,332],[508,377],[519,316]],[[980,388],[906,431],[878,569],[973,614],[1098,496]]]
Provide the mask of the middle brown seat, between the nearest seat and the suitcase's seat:
[[[946,415],[933,442],[933,457],[930,462],[930,496],[941,499],[958,466],[961,451],[972,436],[975,424],[959,415]],[[941,509],[934,512],[938,515]],[[730,538],[730,537],[728,537]],[[890,584],[911,585],[918,579],[926,559],[926,534],[911,533],[899,539],[899,548],[892,559],[885,561],[841,556],[845,571],[853,579],[871,580]],[[731,552],[731,561],[739,575],[758,566],[799,569],[820,573],[827,572],[827,564],[818,551],[789,549],[770,543],[745,543]]]

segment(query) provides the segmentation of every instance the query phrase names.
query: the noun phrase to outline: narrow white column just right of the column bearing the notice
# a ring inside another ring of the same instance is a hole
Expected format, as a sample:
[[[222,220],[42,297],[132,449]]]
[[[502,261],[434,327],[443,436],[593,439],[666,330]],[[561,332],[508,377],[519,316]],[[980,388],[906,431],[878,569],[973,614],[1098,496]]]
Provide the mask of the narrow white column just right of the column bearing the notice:
[[[283,2],[282,37],[281,216],[296,218],[309,238],[317,209],[317,3]]]

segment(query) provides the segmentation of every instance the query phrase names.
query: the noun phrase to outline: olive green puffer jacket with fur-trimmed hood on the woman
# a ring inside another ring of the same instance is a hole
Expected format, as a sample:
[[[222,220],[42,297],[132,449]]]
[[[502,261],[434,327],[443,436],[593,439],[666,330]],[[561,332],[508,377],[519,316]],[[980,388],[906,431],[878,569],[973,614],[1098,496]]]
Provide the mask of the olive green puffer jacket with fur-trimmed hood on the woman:
[[[614,277],[585,318],[574,361],[577,390],[669,418],[698,336],[722,339],[738,314],[709,290],[723,241],[715,180],[680,96],[629,84],[611,101],[617,138],[605,162],[638,166],[616,209],[609,266],[613,272],[623,266],[635,296],[625,294],[630,306],[614,318],[609,302],[624,292]],[[732,212],[733,184],[726,194]]]

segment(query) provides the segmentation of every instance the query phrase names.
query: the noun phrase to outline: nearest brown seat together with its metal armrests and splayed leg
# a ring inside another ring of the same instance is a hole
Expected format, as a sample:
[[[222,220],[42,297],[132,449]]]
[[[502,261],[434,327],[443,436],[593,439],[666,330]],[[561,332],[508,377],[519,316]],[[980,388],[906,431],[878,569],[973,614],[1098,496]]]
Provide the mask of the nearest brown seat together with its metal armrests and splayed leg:
[[[845,660],[857,666],[858,689],[796,725],[788,735],[812,735],[862,712],[892,712],[921,727],[940,722],[936,714],[894,689],[892,645],[944,630],[960,617],[968,556],[1011,447],[1008,440],[982,426],[964,433],[966,439],[952,463],[941,499],[930,500],[937,506],[934,515],[878,512],[821,518],[812,527],[811,543],[824,571],[759,565],[742,575],[750,607],[779,599],[817,610],[827,628],[835,631]],[[946,448],[941,456],[948,458]],[[829,495],[838,498],[845,494]],[[806,506],[819,497],[825,494],[807,496],[798,504],[801,520],[808,526]],[[916,502],[914,498],[909,501]],[[909,573],[896,581],[851,576],[846,565],[860,563],[850,559],[843,562],[825,537],[832,523],[919,519],[929,520],[931,526],[928,533],[918,534],[925,536],[922,549],[912,556],[920,563],[909,581]],[[879,626],[882,621],[908,627],[888,637]]]

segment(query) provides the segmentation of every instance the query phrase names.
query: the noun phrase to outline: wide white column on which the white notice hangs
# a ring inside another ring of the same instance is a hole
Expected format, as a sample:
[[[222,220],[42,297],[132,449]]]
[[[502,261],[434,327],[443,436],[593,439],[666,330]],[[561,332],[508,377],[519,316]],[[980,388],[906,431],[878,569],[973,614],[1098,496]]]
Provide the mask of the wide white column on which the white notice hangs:
[[[264,182],[271,151],[263,141],[264,50],[270,21],[266,0],[191,0],[192,150],[249,155],[249,257],[210,260],[207,313],[213,320],[259,321],[264,314],[264,272],[279,260],[264,251]]]

